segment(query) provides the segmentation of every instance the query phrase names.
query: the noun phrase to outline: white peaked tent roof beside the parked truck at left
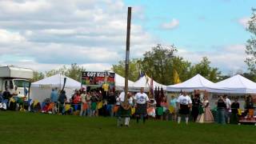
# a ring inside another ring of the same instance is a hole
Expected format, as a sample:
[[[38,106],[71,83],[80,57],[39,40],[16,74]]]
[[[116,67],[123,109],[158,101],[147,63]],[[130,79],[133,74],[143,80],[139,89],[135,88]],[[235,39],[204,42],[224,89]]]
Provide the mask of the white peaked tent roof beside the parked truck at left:
[[[81,87],[81,83],[75,81],[72,78],[66,77],[65,75],[62,74],[56,74],[54,76],[48,77],[48,78],[44,78],[38,82],[33,82],[31,84],[31,86],[46,86],[46,85],[50,85],[50,86],[63,86],[64,83],[64,78],[66,78],[66,87],[70,87],[70,88],[80,88]]]

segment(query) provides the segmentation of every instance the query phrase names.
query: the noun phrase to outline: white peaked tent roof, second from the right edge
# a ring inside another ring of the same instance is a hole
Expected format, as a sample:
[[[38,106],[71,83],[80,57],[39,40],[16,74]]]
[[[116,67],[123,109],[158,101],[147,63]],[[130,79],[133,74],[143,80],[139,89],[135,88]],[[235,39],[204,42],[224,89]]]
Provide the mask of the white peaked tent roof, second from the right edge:
[[[185,82],[178,83],[176,85],[167,86],[168,91],[180,91],[180,90],[210,90],[213,88],[214,82],[210,82],[208,79],[203,78],[202,75],[197,74],[193,78],[186,80]]]

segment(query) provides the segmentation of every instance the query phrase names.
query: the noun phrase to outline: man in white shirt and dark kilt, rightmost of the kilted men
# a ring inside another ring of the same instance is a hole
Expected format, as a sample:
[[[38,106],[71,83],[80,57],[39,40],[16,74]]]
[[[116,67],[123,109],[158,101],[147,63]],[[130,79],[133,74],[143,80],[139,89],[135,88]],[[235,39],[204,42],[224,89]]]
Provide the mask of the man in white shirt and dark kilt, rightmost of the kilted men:
[[[186,94],[186,92],[183,92],[183,94],[178,97],[177,103],[179,110],[178,124],[181,122],[182,116],[186,117],[186,124],[188,124],[190,109],[192,107],[191,98]]]

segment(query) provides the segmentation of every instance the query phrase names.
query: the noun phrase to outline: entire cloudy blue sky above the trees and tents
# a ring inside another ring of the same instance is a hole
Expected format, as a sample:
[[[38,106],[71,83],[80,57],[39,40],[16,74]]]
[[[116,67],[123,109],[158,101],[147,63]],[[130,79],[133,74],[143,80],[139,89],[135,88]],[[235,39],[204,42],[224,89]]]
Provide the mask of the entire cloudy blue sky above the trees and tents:
[[[130,58],[174,44],[176,55],[192,63],[206,56],[223,74],[247,70],[254,0],[1,0],[0,65],[110,70],[125,59],[128,6]]]

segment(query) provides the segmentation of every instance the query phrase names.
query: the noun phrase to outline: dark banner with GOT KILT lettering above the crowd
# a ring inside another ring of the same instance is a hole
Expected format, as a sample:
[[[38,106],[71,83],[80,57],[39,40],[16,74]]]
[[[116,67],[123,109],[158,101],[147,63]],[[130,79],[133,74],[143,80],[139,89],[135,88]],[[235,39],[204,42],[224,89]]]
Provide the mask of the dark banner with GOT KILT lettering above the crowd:
[[[110,87],[114,87],[114,73],[110,72],[82,72],[82,85],[86,86],[102,86],[107,83]]]

